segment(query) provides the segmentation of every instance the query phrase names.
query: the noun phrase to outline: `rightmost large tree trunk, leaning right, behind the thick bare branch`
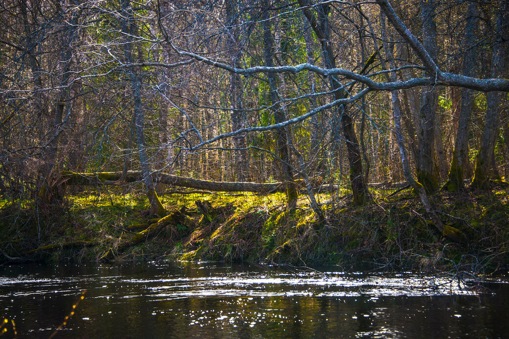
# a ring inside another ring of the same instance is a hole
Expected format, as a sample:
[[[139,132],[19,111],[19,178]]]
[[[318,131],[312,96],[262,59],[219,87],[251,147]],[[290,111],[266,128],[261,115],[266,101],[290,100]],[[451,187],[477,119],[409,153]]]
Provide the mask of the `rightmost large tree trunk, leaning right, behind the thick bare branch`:
[[[509,3],[505,2],[497,9],[496,36],[493,46],[491,61],[491,77],[497,78],[503,75],[505,66],[506,32],[504,27],[509,24]],[[480,189],[488,189],[489,172],[492,166],[492,157],[495,149],[495,142],[498,137],[498,111],[502,100],[503,92],[489,92],[486,98],[486,120],[484,125],[483,139],[475,159],[474,179],[472,186]]]

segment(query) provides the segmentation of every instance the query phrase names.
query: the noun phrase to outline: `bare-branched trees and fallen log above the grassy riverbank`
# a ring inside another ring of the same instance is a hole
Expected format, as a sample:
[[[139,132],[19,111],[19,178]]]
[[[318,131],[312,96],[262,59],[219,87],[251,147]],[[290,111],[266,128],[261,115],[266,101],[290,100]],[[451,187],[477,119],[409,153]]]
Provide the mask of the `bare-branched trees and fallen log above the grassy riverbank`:
[[[405,182],[445,234],[429,194],[509,172],[506,1],[15,0],[0,18],[6,196],[143,182],[164,217],[160,184],[283,191],[323,221],[322,191],[363,205]]]

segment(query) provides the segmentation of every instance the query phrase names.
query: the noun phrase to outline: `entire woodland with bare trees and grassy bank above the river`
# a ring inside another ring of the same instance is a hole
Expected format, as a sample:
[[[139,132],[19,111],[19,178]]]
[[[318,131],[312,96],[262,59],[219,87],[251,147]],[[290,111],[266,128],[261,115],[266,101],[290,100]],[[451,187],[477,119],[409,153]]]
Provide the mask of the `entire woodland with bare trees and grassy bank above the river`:
[[[509,2],[0,3],[2,260],[509,263]]]

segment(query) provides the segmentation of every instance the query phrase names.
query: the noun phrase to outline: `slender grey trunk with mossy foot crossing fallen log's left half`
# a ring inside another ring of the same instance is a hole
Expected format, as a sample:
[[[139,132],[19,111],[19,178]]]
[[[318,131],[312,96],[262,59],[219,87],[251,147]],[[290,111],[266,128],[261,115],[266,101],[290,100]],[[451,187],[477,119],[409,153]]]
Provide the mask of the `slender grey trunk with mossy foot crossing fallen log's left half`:
[[[129,42],[124,45],[124,55],[127,63],[132,63],[132,37],[136,34],[136,26],[134,23],[134,17],[130,0],[122,1],[122,14],[124,20],[122,21],[122,32],[128,36]],[[150,164],[147,155],[147,149],[145,148],[145,116],[142,106],[142,84],[136,74],[136,71],[132,68],[128,69],[129,78],[131,81],[131,92],[134,101],[134,126],[136,131],[136,143],[138,145],[139,162],[142,168],[143,181],[145,183],[145,191],[149,198],[152,210],[158,216],[165,216],[166,210],[161,204],[159,197],[155,191],[154,182],[152,180]]]

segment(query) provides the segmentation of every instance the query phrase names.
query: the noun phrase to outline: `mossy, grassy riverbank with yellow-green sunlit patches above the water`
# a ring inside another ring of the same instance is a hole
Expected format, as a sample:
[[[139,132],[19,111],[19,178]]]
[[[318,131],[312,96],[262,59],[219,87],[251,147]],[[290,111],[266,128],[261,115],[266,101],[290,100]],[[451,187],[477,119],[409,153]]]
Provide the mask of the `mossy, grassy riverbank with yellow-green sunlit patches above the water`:
[[[492,272],[509,266],[509,190],[441,192],[432,201],[442,221],[462,230],[466,244],[444,238],[424,217],[410,189],[387,197],[372,191],[365,206],[349,204],[348,191],[320,194],[326,213],[317,222],[302,196],[294,212],[285,195],[161,194],[171,223],[142,242],[119,244],[154,220],[143,194],[69,192],[59,208],[39,211],[32,201],[0,200],[2,256],[18,260],[253,261],[292,265],[334,264],[351,269],[456,269]],[[203,216],[195,200],[209,207]],[[209,201],[210,205],[206,202]],[[2,259],[3,260],[3,259]]]

